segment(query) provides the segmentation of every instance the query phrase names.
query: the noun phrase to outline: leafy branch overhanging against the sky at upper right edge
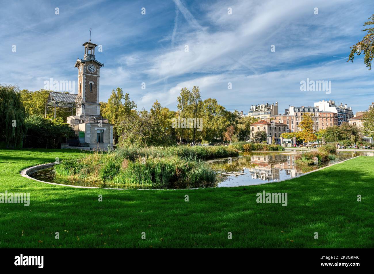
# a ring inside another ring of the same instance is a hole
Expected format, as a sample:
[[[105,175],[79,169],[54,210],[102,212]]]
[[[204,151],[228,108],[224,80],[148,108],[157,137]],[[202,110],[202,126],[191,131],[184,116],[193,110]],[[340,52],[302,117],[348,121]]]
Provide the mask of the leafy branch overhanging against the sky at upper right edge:
[[[365,26],[374,25],[374,14],[368,18],[369,21],[365,22]],[[362,38],[361,41],[358,41],[355,45],[351,46],[350,54],[347,62],[353,62],[355,54],[361,55],[364,52],[364,63],[368,67],[368,70],[371,70],[371,62],[374,57],[374,27],[367,27],[362,31],[367,31],[367,34]]]

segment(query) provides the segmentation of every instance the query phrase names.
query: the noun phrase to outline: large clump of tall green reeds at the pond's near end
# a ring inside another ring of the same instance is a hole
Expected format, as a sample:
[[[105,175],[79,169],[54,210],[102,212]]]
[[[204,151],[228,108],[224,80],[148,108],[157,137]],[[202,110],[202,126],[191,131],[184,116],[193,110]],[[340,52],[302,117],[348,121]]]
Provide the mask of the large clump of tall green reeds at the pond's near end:
[[[215,172],[205,159],[237,156],[232,147],[146,147],[95,152],[55,166],[58,179],[104,181],[115,188],[194,188],[214,186]]]

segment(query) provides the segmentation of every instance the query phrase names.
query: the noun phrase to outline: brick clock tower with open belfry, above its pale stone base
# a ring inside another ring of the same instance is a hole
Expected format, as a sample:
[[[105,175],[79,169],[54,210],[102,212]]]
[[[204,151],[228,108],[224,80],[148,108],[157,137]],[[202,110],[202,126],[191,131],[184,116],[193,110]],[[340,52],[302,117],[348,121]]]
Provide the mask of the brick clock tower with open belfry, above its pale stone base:
[[[100,92],[100,68],[104,64],[95,59],[96,44],[84,43],[85,55],[83,59],[77,60],[75,67],[78,68],[78,95],[85,101],[85,109],[77,108],[79,116],[100,116],[99,92]]]

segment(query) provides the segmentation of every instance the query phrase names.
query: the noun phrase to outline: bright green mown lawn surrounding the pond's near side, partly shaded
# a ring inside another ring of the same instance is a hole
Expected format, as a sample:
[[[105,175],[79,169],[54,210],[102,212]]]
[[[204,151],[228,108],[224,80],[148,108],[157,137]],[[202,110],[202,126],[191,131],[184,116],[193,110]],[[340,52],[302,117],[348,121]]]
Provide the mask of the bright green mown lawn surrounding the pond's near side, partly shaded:
[[[30,192],[31,200],[28,207],[0,204],[1,248],[374,247],[373,157],[284,182],[198,190],[77,189],[19,175],[79,154],[0,149],[0,192]],[[288,206],[256,203],[263,190],[287,192]]]

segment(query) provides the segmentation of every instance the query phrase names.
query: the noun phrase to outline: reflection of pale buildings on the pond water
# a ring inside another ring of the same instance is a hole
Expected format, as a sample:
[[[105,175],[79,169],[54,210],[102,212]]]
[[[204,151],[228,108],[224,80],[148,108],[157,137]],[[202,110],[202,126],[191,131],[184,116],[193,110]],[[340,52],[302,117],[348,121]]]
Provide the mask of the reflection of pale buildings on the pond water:
[[[286,161],[278,162],[275,164],[270,163],[276,161],[277,159],[278,161]],[[285,174],[290,178],[302,174],[302,172],[300,170],[297,170],[296,168],[295,155],[251,156],[251,163],[257,165],[256,167],[248,168],[249,174],[251,174],[252,179],[259,179],[268,182],[279,180],[281,171],[283,170],[285,170]]]

